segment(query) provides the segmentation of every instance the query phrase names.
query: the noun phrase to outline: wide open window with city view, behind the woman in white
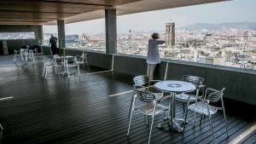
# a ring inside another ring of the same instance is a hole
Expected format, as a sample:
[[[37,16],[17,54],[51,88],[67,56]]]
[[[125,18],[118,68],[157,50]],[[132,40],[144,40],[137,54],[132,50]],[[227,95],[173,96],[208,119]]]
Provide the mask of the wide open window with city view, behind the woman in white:
[[[161,58],[255,70],[255,6],[236,0],[118,16],[117,52],[147,55],[148,39],[158,32],[166,41]]]

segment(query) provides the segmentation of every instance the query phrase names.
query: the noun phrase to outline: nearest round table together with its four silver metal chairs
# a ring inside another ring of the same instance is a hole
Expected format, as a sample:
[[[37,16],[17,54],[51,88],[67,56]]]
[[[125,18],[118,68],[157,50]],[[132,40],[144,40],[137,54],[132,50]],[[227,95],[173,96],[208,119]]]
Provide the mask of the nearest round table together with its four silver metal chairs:
[[[185,133],[186,124],[189,123],[187,115],[188,112],[191,111],[194,112],[194,126],[196,114],[201,114],[201,120],[202,118],[208,119],[212,139],[213,142],[215,142],[211,118],[212,115],[219,110],[224,114],[226,133],[229,136],[223,100],[224,88],[220,90],[206,88],[206,86],[203,85],[204,78],[190,75],[184,75],[181,81],[152,81],[149,80],[148,76],[137,76],[133,78],[133,81],[133,95],[129,112],[130,122],[127,136],[130,135],[133,112],[143,113],[146,116],[146,124],[148,124],[148,117],[151,117],[151,126],[148,136],[149,143],[152,127],[154,125],[154,117],[156,115],[164,113],[163,122],[157,124],[158,128],[162,128],[164,124],[171,124],[172,131],[182,133],[183,135]],[[154,83],[154,92],[152,92],[152,90],[149,91],[149,87],[152,87],[152,82]],[[168,101],[167,105],[166,101]],[[177,101],[183,104],[183,118],[176,117],[175,110]],[[220,107],[213,105],[217,102],[221,103]],[[166,116],[166,113],[168,116]]]

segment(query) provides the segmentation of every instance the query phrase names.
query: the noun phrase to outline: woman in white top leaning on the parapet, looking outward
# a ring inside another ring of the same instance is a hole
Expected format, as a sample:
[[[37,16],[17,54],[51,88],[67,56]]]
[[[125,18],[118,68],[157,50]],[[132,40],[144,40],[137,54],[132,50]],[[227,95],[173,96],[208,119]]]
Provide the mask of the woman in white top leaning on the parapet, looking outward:
[[[153,79],[154,68],[156,64],[160,63],[158,45],[165,43],[165,41],[159,40],[160,37],[158,33],[153,33],[151,37],[152,39],[148,40],[148,55],[147,55],[147,64],[148,64],[147,75],[150,80]]]

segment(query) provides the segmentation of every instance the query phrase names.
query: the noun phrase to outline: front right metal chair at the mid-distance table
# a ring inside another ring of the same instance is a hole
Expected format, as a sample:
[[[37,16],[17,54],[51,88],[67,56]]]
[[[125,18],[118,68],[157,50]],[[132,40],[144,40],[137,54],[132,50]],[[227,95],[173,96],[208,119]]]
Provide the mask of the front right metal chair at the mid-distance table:
[[[75,57],[67,56],[64,60],[64,68],[66,69],[68,78],[70,77],[70,74],[71,74],[69,68],[72,68],[72,67],[77,67],[79,76],[80,76],[79,65],[77,64]]]

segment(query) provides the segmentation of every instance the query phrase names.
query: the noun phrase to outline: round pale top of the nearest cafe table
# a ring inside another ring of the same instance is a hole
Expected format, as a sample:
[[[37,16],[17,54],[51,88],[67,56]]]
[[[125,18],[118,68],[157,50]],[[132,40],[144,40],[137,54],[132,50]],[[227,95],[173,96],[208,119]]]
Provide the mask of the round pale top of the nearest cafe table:
[[[154,88],[167,92],[189,92],[195,90],[195,85],[183,81],[167,80],[154,84]]]

